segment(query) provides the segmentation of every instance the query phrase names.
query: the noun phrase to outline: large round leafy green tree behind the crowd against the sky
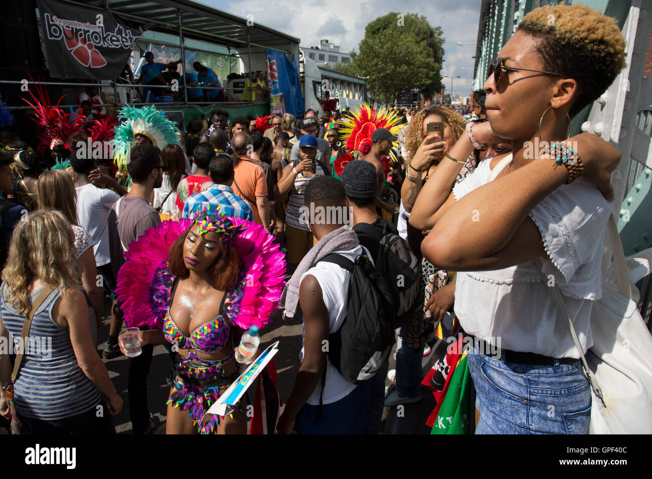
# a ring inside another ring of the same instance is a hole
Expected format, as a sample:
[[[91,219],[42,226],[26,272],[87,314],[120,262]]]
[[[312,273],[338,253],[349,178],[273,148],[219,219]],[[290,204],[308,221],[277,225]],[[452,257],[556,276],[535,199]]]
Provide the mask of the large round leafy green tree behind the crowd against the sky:
[[[441,91],[442,31],[424,16],[396,12],[368,23],[359,53],[337,70],[369,77],[367,91],[391,103],[404,87],[419,88],[426,98]]]

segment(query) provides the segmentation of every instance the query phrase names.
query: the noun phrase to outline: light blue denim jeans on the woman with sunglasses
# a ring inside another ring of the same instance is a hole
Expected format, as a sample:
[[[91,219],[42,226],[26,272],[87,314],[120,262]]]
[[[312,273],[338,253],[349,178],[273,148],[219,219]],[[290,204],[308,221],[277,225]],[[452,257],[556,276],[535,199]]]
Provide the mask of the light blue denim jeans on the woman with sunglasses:
[[[580,360],[533,366],[475,349],[467,357],[480,411],[476,434],[589,433],[591,390]]]

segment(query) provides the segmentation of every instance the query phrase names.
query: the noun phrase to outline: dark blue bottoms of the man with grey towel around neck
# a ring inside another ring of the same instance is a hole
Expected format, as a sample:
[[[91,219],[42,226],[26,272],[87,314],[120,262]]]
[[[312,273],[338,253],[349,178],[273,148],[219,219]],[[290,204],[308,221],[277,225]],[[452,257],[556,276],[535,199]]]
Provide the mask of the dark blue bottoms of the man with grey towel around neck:
[[[294,428],[299,434],[362,434],[372,381],[363,381],[344,398],[321,406],[304,404]],[[319,418],[319,420],[317,420]]]

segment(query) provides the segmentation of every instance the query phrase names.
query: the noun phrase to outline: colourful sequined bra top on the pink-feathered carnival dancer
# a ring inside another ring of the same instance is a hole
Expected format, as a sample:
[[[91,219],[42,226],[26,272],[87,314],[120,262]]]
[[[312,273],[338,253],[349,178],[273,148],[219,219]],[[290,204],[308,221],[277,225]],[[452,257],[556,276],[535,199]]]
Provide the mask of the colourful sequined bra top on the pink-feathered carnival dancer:
[[[179,349],[194,349],[200,353],[206,353],[209,355],[224,349],[228,343],[231,331],[229,324],[221,314],[227,293],[225,292],[224,297],[222,297],[220,315],[215,317],[215,319],[211,319],[211,321],[203,323],[203,325],[200,325],[194,331],[190,332],[190,336],[186,336],[181,332],[177,323],[174,322],[174,319],[172,319],[170,315],[172,300],[178,284],[179,279],[177,278],[172,287],[170,302],[168,303],[168,311],[163,318],[163,334],[166,340],[171,344],[177,344]]]

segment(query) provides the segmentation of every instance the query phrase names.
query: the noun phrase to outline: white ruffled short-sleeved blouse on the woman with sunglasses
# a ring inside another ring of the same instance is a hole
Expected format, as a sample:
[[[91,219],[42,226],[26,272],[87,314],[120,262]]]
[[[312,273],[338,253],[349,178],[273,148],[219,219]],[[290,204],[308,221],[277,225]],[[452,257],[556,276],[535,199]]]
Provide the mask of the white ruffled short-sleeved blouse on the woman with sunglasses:
[[[490,169],[483,160],[453,188],[456,200],[492,181],[511,157]],[[614,208],[583,178],[562,185],[529,214],[541,231],[542,270],[564,296],[580,345],[593,345],[589,316],[601,295],[604,231]],[[503,349],[579,358],[568,319],[557,311],[535,261],[493,271],[459,272],[454,310],[468,334]]]

